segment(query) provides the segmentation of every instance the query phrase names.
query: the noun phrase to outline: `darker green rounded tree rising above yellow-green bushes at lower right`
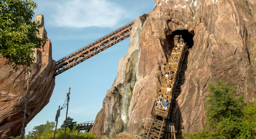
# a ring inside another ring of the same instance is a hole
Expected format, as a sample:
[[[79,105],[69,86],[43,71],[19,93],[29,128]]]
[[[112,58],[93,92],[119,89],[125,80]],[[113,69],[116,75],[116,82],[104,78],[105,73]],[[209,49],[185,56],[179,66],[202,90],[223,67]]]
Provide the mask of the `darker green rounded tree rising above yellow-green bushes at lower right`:
[[[216,127],[223,118],[241,117],[244,103],[244,95],[234,97],[237,93],[234,86],[227,85],[221,80],[216,83],[208,83],[208,95],[206,101],[207,124]]]

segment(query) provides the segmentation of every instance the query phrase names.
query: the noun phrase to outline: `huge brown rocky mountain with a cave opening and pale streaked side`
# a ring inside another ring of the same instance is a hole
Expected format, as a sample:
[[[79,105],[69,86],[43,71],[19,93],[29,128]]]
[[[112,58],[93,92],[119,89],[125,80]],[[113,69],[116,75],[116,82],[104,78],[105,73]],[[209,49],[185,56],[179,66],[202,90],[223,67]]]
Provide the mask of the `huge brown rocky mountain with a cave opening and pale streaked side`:
[[[246,102],[255,101],[256,59],[251,44],[256,44],[255,1],[155,2],[148,17],[134,22],[128,52],[119,61],[117,77],[91,132],[115,136],[142,131],[142,118],[151,117],[173,37],[179,33],[193,47],[172,113],[176,130],[203,129],[207,81],[227,81],[246,94]]]

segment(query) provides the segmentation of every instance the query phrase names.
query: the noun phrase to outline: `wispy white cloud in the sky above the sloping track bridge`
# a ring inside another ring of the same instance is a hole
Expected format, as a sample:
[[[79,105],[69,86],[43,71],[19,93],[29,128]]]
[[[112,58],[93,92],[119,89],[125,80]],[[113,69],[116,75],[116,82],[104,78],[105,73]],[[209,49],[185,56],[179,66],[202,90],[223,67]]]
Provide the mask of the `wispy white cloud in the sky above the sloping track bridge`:
[[[56,26],[112,27],[124,11],[116,4],[105,0],[71,0],[57,4],[54,15]]]

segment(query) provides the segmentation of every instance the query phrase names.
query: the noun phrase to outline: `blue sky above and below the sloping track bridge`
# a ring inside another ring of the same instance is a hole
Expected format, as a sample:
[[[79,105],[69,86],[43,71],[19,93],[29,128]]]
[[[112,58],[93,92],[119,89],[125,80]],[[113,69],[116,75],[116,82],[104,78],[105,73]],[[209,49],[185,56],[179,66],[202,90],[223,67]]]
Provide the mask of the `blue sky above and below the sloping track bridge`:
[[[44,16],[48,39],[52,42],[53,59],[58,60],[98,38],[129,23],[153,9],[154,0],[34,0],[35,15]],[[127,53],[129,38],[96,56],[56,76],[49,103],[27,125],[54,121],[58,106],[62,106],[68,88],[68,116],[77,123],[95,120],[102,108],[106,90],[117,75],[118,61]],[[65,120],[66,109],[60,113],[58,127]]]

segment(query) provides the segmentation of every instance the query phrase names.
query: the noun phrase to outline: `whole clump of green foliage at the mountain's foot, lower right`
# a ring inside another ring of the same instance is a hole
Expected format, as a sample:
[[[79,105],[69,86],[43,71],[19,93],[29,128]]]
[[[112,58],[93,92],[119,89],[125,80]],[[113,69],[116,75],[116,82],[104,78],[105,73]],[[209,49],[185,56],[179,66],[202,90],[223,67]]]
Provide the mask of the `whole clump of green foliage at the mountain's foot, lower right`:
[[[193,131],[184,133],[184,139],[255,139],[256,104],[245,104],[244,95],[234,86],[221,80],[208,83],[211,93],[206,100],[205,125],[207,129],[197,135]]]

